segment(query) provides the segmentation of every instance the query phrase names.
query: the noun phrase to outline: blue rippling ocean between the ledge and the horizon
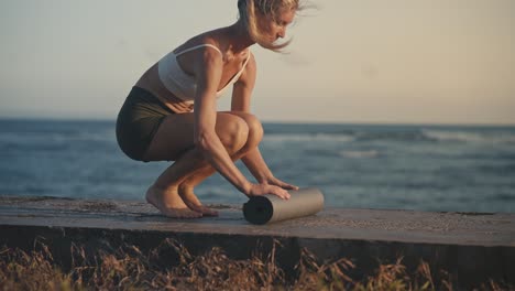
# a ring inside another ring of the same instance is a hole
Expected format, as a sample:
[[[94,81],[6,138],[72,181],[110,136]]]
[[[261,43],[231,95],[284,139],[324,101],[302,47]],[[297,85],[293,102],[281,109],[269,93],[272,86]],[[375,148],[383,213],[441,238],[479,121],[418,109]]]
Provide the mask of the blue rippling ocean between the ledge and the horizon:
[[[320,188],[327,207],[515,213],[515,127],[263,126],[273,173]],[[144,201],[169,164],[125,157],[114,121],[0,120],[0,195]],[[196,193],[246,201],[219,174]]]

